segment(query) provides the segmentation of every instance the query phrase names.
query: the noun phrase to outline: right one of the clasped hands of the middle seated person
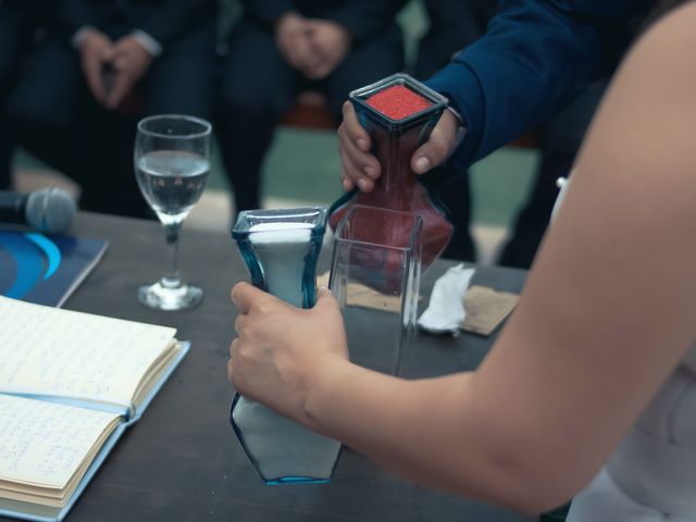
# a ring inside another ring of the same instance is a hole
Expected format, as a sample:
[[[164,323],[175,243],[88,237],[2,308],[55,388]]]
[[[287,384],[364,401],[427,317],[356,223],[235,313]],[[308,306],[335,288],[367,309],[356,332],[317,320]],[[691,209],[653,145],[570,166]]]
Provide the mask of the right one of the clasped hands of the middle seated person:
[[[310,45],[321,60],[306,74],[310,79],[321,79],[328,76],[350,51],[350,34],[328,20],[308,20],[307,28]]]

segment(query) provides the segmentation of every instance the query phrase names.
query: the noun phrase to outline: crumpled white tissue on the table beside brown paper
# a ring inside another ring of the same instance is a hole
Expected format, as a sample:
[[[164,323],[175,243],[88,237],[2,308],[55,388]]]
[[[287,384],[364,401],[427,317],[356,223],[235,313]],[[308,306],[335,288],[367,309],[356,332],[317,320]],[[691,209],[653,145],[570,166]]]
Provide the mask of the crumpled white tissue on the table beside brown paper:
[[[463,264],[452,266],[445,272],[433,286],[427,309],[418,320],[418,325],[432,334],[449,332],[459,335],[459,325],[464,320],[464,293],[469,287],[474,269],[464,269]]]

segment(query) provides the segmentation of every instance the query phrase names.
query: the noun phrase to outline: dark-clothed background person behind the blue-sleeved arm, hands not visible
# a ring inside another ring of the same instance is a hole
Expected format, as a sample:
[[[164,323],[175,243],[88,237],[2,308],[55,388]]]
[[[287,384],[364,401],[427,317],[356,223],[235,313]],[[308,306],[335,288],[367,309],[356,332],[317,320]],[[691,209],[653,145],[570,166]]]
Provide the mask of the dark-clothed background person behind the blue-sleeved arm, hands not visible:
[[[638,2],[639,3],[639,2]],[[425,0],[431,18],[427,34],[420,42],[415,75],[426,79],[445,66],[464,47],[485,33],[486,25],[497,10],[497,1],[489,0]],[[643,13],[639,8],[637,13]],[[551,208],[558,194],[556,179],[568,176],[570,166],[589,125],[589,121],[608,85],[623,48],[630,41],[639,14],[633,13],[622,26],[616,24],[611,41],[613,59],[604,66],[602,76],[593,80],[570,104],[535,132],[539,139],[540,160],[523,209],[519,212],[509,239],[504,245],[498,264],[529,269],[548,225]],[[475,244],[471,224],[471,187],[468,171],[457,171],[449,163],[433,169],[423,183],[431,188],[448,211],[455,232],[444,256],[475,261]]]

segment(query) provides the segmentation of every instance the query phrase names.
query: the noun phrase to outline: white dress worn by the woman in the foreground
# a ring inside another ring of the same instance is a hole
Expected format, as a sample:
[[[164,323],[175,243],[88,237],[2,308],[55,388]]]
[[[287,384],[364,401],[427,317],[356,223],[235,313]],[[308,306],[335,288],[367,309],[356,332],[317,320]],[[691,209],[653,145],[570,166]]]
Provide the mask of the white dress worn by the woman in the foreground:
[[[569,185],[561,184],[552,215]],[[696,345],[597,476],[575,496],[567,518],[668,521],[696,522]]]

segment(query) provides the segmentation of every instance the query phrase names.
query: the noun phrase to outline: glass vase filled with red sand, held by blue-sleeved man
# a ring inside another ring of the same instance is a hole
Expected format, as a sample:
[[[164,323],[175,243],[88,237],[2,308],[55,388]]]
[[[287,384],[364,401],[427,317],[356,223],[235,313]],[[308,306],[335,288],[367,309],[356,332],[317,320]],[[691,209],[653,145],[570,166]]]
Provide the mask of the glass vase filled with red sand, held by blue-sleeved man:
[[[447,107],[447,99],[403,73],[355,90],[349,99],[360,124],[370,134],[372,153],[382,165],[382,175],[371,192],[353,190],[336,201],[330,225],[335,231],[353,204],[414,212],[422,220],[422,268],[425,270],[445,250],[452,225],[418,182],[411,170],[411,157],[430,137]],[[372,244],[384,245],[394,243],[395,235],[408,238],[410,234],[410,229],[389,229],[387,223],[370,223],[362,236]],[[388,260],[384,268],[382,289],[389,291]]]

